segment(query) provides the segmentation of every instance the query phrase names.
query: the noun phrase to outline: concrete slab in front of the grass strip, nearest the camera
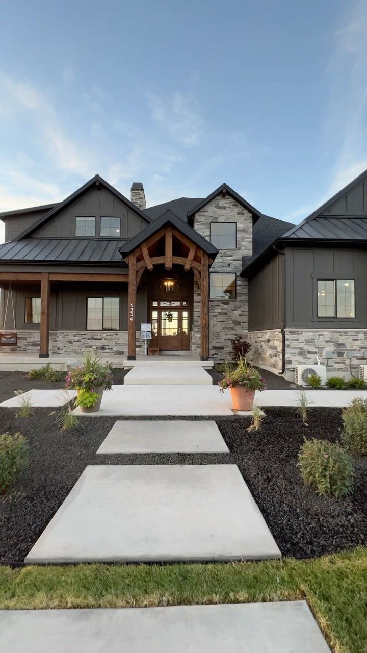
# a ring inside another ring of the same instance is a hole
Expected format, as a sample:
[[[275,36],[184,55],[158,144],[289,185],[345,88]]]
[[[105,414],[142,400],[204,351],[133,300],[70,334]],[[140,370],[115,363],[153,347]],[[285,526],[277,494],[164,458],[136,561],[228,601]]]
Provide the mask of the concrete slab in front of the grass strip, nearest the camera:
[[[306,601],[0,611],[8,653],[330,653]]]

